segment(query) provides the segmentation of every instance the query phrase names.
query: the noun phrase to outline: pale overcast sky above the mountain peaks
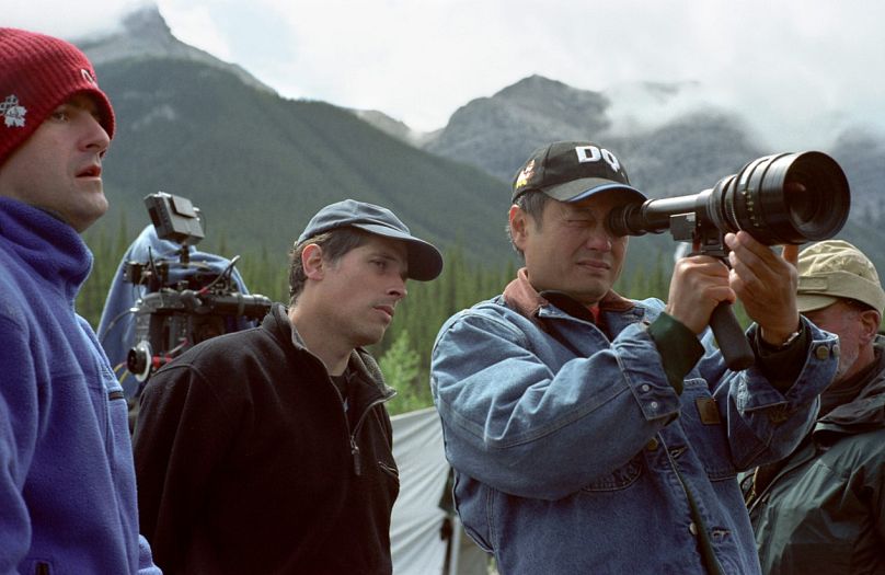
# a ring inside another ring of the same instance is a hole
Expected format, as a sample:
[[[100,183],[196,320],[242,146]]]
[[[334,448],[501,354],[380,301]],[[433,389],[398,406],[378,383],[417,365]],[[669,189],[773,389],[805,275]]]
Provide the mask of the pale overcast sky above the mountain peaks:
[[[3,0],[0,25],[76,39],[142,0]],[[530,74],[606,91],[693,87],[660,122],[709,102],[746,114],[773,148],[828,146],[847,125],[885,131],[885,2],[877,0],[158,0],[181,41],[239,64],[287,97],[445,126]],[[628,91],[612,93],[627,94]],[[588,135],[593,139],[593,135]],[[772,150],[780,151],[780,150]]]

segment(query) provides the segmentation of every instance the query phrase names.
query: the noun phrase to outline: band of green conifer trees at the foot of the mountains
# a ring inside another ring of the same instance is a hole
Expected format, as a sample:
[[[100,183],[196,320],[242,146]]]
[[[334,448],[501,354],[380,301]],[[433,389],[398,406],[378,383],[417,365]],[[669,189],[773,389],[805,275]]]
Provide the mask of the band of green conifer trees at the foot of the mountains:
[[[77,301],[77,309],[93,326],[99,324],[120,257],[140,229],[130,229],[123,222],[116,230],[96,229],[87,234],[95,263]],[[637,253],[647,251],[645,240],[632,240],[631,249]],[[221,255],[241,255],[238,268],[251,292],[265,295],[274,301],[288,301],[288,263],[284,252],[232,252],[223,243],[214,252]],[[204,249],[202,244],[200,249]],[[372,349],[380,358],[388,383],[399,391],[399,395],[390,404],[393,413],[430,405],[430,349],[437,331],[446,319],[499,294],[516,274],[516,258],[505,260],[502,265],[490,267],[469,257],[468,249],[457,244],[445,250],[445,268],[436,280],[409,283],[409,296],[398,306],[395,319],[383,341]],[[670,262],[660,256],[653,265],[640,266],[635,272],[629,273],[618,283],[616,289],[630,297],[665,298],[670,266]]]

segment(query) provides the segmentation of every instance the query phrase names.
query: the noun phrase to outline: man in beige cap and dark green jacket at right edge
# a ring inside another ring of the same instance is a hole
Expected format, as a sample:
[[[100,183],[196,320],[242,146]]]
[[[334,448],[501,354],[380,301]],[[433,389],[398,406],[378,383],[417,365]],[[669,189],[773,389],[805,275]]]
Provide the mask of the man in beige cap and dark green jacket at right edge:
[[[798,310],[839,336],[836,378],[812,434],[757,470],[748,506],[762,571],[885,573],[885,292],[848,242],[798,257]]]

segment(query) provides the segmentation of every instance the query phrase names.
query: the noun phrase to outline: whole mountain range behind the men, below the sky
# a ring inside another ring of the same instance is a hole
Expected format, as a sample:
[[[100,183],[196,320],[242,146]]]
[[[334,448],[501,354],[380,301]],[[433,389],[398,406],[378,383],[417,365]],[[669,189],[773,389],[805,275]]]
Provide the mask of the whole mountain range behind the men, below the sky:
[[[183,195],[206,215],[207,239],[234,250],[283,253],[319,207],[354,197],[389,206],[442,246],[461,243],[501,263],[513,257],[502,231],[509,182],[550,141],[589,139],[616,151],[650,197],[694,194],[750,160],[795,151],[767,148],[747,118],[704,101],[690,82],[594,92],[531,76],[422,134],[378,112],[283,99],[179,42],[156,8],[78,45],[118,115],[105,169],[114,211],[140,227],[145,195]],[[844,169],[853,203],[840,237],[881,258],[885,140],[852,129],[834,141],[821,151]],[[632,249],[631,265],[673,251],[667,237],[636,243],[647,249]]]

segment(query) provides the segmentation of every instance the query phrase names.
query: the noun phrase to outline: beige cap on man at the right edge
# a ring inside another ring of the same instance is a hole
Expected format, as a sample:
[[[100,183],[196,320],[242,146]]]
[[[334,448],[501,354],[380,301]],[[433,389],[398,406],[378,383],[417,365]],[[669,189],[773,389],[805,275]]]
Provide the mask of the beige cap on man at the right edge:
[[[873,263],[863,252],[842,240],[827,240],[798,254],[800,312],[819,310],[839,299],[854,299],[880,313],[885,291]]]

